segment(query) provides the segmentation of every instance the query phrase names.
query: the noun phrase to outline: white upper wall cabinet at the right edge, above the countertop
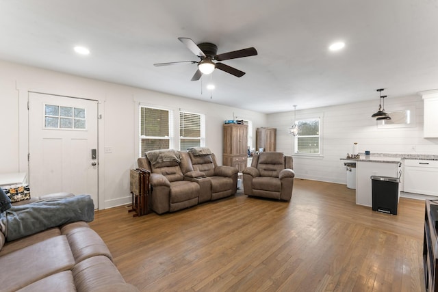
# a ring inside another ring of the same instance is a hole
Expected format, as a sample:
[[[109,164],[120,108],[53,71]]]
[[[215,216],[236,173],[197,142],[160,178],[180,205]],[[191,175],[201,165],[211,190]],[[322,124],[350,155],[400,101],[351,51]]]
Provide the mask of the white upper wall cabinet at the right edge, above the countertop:
[[[424,137],[438,137],[438,92],[430,90],[422,93],[424,100]]]

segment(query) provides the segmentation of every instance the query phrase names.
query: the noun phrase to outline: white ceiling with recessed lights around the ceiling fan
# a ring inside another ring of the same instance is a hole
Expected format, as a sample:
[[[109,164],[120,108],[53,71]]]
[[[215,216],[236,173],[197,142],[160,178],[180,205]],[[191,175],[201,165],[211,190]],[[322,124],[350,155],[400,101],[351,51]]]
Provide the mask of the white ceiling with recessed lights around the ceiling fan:
[[[438,0],[0,0],[0,31],[0,59],[263,113],[438,88]],[[190,81],[196,64],[153,66],[198,60],[178,37],[259,54]]]

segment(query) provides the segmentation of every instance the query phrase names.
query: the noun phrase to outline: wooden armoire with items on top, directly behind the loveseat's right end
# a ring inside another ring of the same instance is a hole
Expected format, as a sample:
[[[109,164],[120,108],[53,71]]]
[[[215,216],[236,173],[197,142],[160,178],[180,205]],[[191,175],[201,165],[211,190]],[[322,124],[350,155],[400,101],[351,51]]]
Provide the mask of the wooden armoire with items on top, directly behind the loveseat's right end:
[[[224,124],[224,152],[222,164],[233,166],[242,172],[248,156],[248,126]]]

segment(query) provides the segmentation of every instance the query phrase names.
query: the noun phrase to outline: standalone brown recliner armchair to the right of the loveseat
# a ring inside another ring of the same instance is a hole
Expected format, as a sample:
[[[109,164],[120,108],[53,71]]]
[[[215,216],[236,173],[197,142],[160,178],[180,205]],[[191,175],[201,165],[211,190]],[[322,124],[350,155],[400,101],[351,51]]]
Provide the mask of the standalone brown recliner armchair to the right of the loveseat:
[[[242,172],[244,193],[247,196],[289,201],[295,177],[292,168],[292,157],[282,152],[261,152],[255,155],[251,166]]]

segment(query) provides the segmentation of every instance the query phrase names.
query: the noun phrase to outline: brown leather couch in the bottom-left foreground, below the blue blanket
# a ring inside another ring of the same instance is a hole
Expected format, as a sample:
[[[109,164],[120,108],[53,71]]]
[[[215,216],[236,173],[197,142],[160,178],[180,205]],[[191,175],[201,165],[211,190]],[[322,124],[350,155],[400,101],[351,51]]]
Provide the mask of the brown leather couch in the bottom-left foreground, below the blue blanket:
[[[138,291],[86,222],[5,243],[0,233],[0,291]]]

